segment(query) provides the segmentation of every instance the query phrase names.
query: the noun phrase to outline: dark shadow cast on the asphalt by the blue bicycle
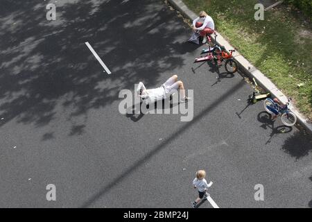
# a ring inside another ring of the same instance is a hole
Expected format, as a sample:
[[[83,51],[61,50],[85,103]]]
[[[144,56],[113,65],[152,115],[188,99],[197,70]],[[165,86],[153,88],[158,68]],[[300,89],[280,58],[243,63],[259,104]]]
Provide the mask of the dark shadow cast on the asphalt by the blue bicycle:
[[[269,144],[272,140],[272,137],[274,137],[275,135],[277,134],[280,134],[280,133],[290,133],[293,128],[291,126],[277,126],[275,127],[274,124],[275,124],[275,121],[273,121],[271,119],[271,114],[269,114],[268,112],[266,111],[263,111],[263,112],[260,112],[258,114],[258,117],[257,117],[258,121],[263,123],[260,127],[263,128],[263,129],[268,129],[270,128],[272,130],[271,134],[270,134],[270,138],[268,139],[268,141],[266,142],[266,144]]]

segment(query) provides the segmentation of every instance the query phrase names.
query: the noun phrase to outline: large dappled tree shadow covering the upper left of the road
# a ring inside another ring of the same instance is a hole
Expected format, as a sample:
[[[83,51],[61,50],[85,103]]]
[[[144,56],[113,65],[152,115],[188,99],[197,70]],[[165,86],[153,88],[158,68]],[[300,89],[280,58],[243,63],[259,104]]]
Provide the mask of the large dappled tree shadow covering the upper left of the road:
[[[64,110],[69,123],[87,117],[88,110],[112,104],[120,89],[131,89],[139,80],[159,84],[160,74],[182,67],[182,56],[198,47],[177,39],[187,39],[190,31],[180,28],[182,19],[163,3],[59,4],[55,21],[46,20],[46,3],[4,1],[1,6],[0,116],[6,122],[43,127]],[[103,73],[85,42],[103,58],[111,75]],[[85,121],[73,124],[68,135],[84,133],[76,125]],[[53,139],[46,132],[42,136]]]

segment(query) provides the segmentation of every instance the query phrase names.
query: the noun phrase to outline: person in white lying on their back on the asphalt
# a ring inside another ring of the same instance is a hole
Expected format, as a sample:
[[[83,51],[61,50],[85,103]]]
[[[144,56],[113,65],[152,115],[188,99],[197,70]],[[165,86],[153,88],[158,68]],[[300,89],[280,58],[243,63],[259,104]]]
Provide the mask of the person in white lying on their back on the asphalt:
[[[157,101],[168,98],[174,92],[180,89],[180,102],[184,103],[189,101],[191,98],[185,96],[184,84],[181,80],[177,80],[177,75],[171,76],[166,80],[166,83],[155,89],[146,89],[142,82],[137,87],[137,94],[142,100],[150,99],[150,101]]]

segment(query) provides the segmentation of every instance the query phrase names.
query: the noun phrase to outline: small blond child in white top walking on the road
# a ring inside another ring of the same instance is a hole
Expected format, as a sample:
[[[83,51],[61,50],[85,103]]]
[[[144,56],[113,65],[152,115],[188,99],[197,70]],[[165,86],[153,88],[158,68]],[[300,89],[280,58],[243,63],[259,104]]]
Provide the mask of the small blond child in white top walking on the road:
[[[200,170],[196,172],[196,178],[193,180],[194,188],[198,189],[199,197],[192,202],[192,207],[195,207],[196,204],[202,199],[207,198],[209,194],[206,195],[207,188],[211,187],[212,182],[209,182],[207,184],[207,181],[205,179],[206,171]]]

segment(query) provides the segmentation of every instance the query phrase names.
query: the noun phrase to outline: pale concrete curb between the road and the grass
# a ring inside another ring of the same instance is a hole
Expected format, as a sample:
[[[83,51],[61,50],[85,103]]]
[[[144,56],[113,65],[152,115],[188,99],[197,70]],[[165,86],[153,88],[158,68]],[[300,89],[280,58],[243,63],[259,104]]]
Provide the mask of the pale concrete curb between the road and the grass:
[[[182,13],[184,17],[188,19],[196,19],[198,17],[192,10],[190,10],[182,0],[167,0],[176,10]],[[216,32],[218,35],[218,40],[216,41],[217,44],[225,46],[225,49],[234,49],[234,47],[225,40],[225,38],[220,35],[220,33]],[[214,38],[214,36],[212,36]],[[269,78],[264,76],[259,69],[254,67],[248,60],[246,60],[241,54],[236,51],[236,55],[234,56],[234,60],[238,62],[241,71],[244,74],[249,76],[250,78],[254,78],[257,80],[258,85],[260,85],[263,89],[266,89],[267,92],[270,92],[272,97],[276,97],[281,101],[281,103],[286,104],[288,101],[287,96],[283,94],[279,89],[277,89],[276,85],[274,85]],[[295,108],[293,105],[290,105],[292,112],[297,116],[297,122],[301,123],[302,126],[306,129],[310,135],[312,135],[312,123],[309,122],[306,117],[300,114],[299,110]]]

